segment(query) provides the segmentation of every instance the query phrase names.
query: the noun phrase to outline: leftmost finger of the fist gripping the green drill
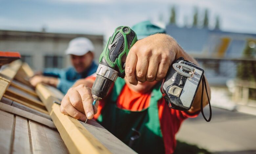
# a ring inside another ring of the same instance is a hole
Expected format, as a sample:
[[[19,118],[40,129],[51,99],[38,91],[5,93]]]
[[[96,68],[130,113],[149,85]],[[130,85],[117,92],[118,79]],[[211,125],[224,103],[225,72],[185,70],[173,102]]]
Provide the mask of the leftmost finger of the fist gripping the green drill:
[[[131,50],[132,50],[132,48],[131,48]],[[128,53],[126,62],[125,62],[125,75],[130,84],[137,85],[138,81],[137,81],[136,75],[135,75],[135,69],[136,69],[136,64],[137,64],[137,55],[134,52],[132,52],[131,50]]]

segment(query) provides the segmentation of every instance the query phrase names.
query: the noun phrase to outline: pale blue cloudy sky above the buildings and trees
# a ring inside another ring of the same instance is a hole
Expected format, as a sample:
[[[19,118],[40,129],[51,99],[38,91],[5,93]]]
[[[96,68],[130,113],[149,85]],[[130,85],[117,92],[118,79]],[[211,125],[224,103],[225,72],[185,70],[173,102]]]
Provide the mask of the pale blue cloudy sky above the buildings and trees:
[[[256,0],[0,0],[0,29],[111,35],[120,25],[139,21],[168,22],[170,7],[177,24],[192,23],[197,6],[209,10],[209,24],[220,16],[225,31],[256,33]]]

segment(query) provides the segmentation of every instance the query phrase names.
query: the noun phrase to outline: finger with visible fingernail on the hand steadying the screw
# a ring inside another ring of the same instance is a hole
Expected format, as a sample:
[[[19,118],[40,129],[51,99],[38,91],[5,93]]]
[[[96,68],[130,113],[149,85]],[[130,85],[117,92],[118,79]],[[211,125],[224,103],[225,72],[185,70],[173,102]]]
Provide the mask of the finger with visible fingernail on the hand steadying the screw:
[[[85,114],[88,119],[92,119],[94,115],[94,110],[91,89],[86,87],[85,85],[80,85],[78,87],[79,88],[77,88],[77,91],[80,94]]]

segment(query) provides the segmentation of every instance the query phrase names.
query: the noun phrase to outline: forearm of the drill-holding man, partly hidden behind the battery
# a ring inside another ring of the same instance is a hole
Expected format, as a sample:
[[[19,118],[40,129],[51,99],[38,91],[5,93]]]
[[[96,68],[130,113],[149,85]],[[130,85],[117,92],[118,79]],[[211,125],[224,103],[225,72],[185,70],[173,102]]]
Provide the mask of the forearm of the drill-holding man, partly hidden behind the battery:
[[[185,60],[191,61],[194,64],[196,64],[197,66],[199,66],[198,62],[193,57],[189,56],[178,45],[178,43],[176,44],[176,47],[177,47],[177,51],[176,51],[176,55],[175,55],[175,60],[177,60],[179,57],[183,57]],[[208,81],[207,81],[206,78],[205,78],[205,82],[206,82],[206,87],[207,87],[207,92],[209,94],[209,98],[211,98],[211,90],[210,90],[210,86],[209,86]],[[206,87],[204,87],[204,90],[203,90],[203,107],[208,104],[208,99],[207,99],[206,90],[205,90]],[[196,97],[194,99],[192,107],[191,107],[190,110],[188,110],[189,113],[194,113],[194,112],[200,110],[200,107],[201,107],[201,95],[202,95],[202,81],[201,81],[201,83],[199,85],[199,88],[197,90]]]

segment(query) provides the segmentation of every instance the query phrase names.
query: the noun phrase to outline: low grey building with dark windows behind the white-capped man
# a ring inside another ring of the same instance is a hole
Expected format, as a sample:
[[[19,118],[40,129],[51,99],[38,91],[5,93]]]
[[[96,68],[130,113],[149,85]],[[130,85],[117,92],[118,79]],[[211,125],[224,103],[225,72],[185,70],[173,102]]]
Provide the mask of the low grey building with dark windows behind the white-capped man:
[[[22,60],[34,70],[65,68],[71,65],[65,50],[69,41],[76,37],[87,37],[92,41],[98,62],[103,49],[103,35],[0,30],[0,50],[20,52]]]

